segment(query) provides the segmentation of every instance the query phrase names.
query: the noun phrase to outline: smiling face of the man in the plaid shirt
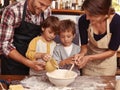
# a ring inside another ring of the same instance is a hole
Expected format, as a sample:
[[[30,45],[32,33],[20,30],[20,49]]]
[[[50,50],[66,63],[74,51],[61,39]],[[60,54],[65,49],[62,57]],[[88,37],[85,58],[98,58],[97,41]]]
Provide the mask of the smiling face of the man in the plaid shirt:
[[[46,10],[52,3],[52,0],[28,0],[28,6],[33,14],[39,15]]]

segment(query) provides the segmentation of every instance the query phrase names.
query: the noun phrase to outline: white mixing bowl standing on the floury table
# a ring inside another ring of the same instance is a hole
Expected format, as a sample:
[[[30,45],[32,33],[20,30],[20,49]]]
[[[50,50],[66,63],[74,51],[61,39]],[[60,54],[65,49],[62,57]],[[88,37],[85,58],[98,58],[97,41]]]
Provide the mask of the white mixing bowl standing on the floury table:
[[[65,87],[74,82],[75,78],[77,77],[77,73],[74,71],[69,71],[68,77],[66,74],[68,70],[66,69],[58,69],[54,70],[53,72],[47,72],[46,75],[49,78],[49,81],[58,87]]]

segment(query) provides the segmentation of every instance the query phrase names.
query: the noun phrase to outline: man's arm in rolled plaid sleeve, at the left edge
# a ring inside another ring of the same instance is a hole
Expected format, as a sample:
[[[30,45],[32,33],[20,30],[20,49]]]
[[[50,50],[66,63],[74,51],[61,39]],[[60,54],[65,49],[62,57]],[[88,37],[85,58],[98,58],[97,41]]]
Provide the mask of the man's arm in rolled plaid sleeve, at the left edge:
[[[39,66],[38,62],[31,62],[24,56],[22,56],[12,44],[14,37],[14,28],[17,26],[20,21],[16,19],[14,11],[10,8],[6,8],[2,14],[1,24],[0,24],[0,49],[2,54],[7,57],[12,58],[13,60],[20,62],[22,64],[27,65],[33,69],[40,70],[41,66]],[[20,17],[20,16],[18,16]],[[16,21],[18,20],[18,21]],[[16,25],[17,24],[17,25]]]

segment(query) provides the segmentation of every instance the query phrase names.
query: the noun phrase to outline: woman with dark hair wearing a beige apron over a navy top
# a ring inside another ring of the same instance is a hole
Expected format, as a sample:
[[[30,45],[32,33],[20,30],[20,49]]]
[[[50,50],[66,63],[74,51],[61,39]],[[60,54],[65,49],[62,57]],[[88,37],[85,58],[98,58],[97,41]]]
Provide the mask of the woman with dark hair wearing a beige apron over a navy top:
[[[81,51],[75,55],[83,75],[115,75],[116,51],[120,44],[120,16],[112,0],[85,0],[85,15],[79,19]]]

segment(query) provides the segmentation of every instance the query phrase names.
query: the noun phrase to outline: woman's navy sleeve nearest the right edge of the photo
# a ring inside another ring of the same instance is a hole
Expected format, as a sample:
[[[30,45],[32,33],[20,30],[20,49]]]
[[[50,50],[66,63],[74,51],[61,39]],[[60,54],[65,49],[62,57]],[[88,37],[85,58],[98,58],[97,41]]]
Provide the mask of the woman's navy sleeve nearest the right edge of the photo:
[[[120,46],[120,16],[115,14],[110,23],[110,32],[112,33],[108,48],[114,51]]]

